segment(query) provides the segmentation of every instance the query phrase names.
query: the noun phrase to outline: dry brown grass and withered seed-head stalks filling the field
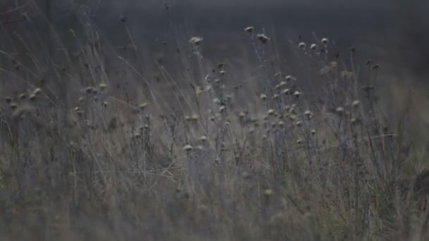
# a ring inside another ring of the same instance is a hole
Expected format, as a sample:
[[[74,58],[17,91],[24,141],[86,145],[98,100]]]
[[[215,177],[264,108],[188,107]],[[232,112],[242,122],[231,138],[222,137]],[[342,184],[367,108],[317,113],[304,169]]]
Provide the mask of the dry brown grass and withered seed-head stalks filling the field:
[[[164,43],[173,73],[86,32],[1,49],[1,240],[429,238],[427,143],[383,106],[377,62],[314,37],[290,69],[246,27],[238,80],[202,37]]]

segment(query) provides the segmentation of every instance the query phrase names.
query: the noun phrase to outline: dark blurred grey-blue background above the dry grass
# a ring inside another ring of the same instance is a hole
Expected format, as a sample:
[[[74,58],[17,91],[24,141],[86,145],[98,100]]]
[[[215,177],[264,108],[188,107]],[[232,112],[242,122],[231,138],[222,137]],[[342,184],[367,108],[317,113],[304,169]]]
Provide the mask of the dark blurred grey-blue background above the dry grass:
[[[0,37],[2,49],[10,49],[13,41],[6,35],[35,27],[49,32],[49,21],[68,45],[71,29],[84,38],[82,26],[90,25],[111,46],[127,44],[124,39],[132,35],[145,55],[164,56],[162,43],[200,35],[205,54],[223,60],[243,58],[248,50],[242,47],[243,28],[253,25],[275,40],[280,55],[287,55],[288,41],[328,37],[342,49],[355,47],[362,59],[383,63],[392,78],[420,88],[429,74],[427,9],[424,0],[1,0]],[[31,23],[23,25],[23,18]]]

